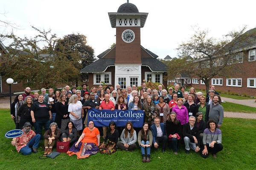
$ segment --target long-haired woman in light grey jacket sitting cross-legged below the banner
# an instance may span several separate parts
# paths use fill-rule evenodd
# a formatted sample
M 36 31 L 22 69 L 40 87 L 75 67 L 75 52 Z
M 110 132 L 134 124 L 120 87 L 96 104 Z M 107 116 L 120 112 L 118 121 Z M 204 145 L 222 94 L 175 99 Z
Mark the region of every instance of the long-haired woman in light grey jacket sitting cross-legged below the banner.
M 132 152 L 137 146 L 137 134 L 130 121 L 125 125 L 125 129 L 122 131 L 120 136 L 121 141 L 117 142 L 116 146 L 121 150 L 128 150 Z

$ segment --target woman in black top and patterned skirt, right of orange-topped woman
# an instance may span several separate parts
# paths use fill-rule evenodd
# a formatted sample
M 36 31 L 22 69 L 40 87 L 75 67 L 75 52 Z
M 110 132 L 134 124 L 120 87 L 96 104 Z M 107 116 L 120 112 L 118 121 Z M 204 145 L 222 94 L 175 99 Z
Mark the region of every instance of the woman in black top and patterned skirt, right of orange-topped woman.
M 104 142 L 99 147 L 100 153 L 111 154 L 116 152 L 116 143 L 118 141 L 118 130 L 116 130 L 116 123 L 111 121 L 108 125 L 108 133 Z

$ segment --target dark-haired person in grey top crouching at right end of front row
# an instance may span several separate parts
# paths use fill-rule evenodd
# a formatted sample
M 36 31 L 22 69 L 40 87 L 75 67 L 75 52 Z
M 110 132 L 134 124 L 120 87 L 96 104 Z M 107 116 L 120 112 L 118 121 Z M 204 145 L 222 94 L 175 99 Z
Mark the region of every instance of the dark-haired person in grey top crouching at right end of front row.
M 221 144 L 222 134 L 221 130 L 217 129 L 218 124 L 214 120 L 207 121 L 207 129 L 204 130 L 203 144 L 204 150 L 201 153 L 203 158 L 209 156 L 209 152 L 212 153 L 213 158 L 217 158 L 216 153 L 223 150 Z

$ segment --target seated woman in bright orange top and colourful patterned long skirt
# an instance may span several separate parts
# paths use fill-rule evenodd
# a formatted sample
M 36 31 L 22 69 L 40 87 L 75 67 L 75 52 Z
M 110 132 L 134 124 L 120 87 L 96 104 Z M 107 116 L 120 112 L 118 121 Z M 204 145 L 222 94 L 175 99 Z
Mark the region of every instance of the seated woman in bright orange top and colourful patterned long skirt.
M 99 144 L 99 130 L 94 127 L 93 121 L 90 121 L 89 126 L 84 129 L 78 141 L 67 151 L 67 154 L 69 156 L 77 155 L 77 159 L 87 158 L 98 152 Z

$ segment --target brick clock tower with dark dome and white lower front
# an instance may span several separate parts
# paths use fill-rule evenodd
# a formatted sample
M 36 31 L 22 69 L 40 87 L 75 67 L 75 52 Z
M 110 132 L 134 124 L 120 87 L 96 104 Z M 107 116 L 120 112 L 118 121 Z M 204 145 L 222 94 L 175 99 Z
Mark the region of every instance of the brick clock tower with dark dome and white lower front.
M 121 87 L 141 82 L 140 28 L 144 27 L 148 13 L 139 12 L 132 3 L 124 3 L 108 16 L 112 28 L 116 28 L 115 82 Z

